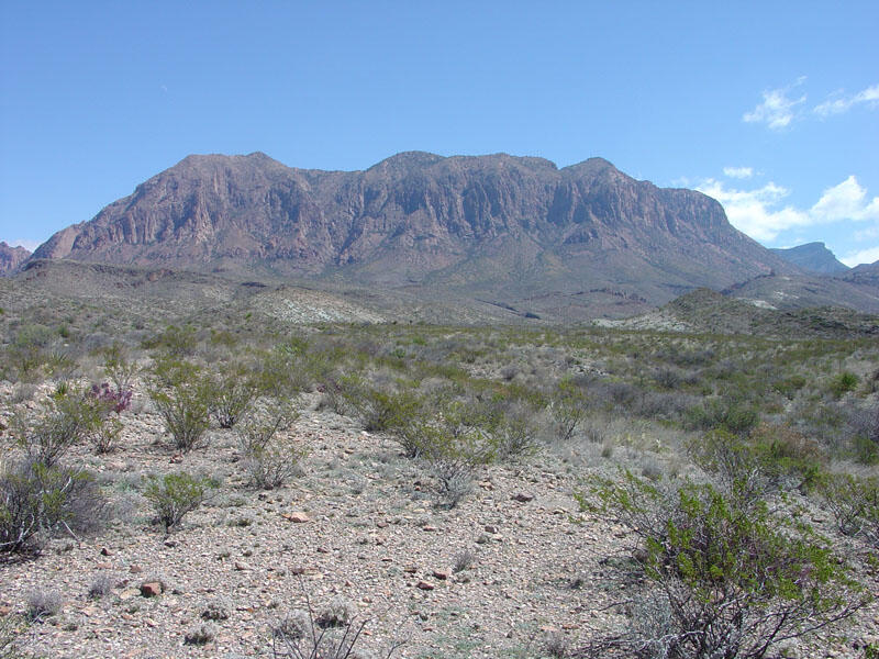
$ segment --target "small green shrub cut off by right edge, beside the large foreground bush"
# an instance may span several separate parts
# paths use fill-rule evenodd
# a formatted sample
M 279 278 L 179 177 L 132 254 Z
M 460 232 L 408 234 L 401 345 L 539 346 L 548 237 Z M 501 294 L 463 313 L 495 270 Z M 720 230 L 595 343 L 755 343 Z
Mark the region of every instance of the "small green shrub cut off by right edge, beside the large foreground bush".
M 879 478 L 827 474 L 820 480 L 817 491 L 839 533 L 879 548 Z

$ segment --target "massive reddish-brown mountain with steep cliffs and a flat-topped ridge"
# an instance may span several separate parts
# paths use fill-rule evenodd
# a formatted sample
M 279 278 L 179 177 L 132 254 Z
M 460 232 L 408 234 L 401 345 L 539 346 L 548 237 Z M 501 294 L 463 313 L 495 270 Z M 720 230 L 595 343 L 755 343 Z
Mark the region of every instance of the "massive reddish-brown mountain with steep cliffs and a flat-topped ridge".
M 799 272 L 700 192 L 601 158 L 409 152 L 363 171 L 189 156 L 41 245 L 66 258 L 450 291 L 523 312 L 631 314 Z

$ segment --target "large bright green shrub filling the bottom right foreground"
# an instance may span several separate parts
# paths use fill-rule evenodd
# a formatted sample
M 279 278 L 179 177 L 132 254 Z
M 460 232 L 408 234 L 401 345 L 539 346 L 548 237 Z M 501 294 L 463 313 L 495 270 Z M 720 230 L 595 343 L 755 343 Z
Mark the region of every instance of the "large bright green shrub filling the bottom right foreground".
M 626 473 L 599 480 L 585 510 L 628 527 L 660 629 L 597 639 L 581 656 L 766 657 L 772 644 L 845 619 L 868 595 L 823 538 L 711 485 L 665 490 Z

